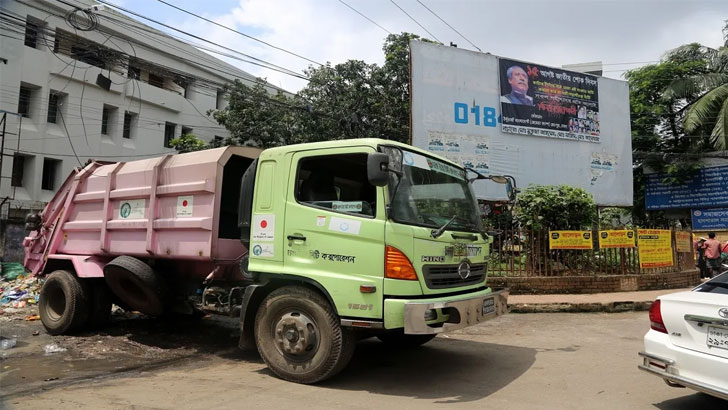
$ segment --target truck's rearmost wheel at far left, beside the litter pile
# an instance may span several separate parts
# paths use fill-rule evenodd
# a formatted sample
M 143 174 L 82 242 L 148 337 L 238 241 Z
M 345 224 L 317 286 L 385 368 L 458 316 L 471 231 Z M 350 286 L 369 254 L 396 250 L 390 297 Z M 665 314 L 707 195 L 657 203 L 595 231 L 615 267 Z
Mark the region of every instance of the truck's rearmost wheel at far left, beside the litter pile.
M 88 318 L 86 292 L 76 275 L 67 270 L 51 273 L 40 290 L 38 313 L 52 335 L 83 326 Z

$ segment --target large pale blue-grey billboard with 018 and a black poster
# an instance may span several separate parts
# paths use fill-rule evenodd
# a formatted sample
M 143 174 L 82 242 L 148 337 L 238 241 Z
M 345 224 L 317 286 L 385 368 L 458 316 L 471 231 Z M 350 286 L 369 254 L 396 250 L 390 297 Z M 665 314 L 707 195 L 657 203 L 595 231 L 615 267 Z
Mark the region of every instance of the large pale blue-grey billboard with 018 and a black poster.
M 522 188 L 570 185 L 598 205 L 632 205 L 626 82 L 418 41 L 410 52 L 412 145 Z M 489 181 L 475 192 L 505 198 Z

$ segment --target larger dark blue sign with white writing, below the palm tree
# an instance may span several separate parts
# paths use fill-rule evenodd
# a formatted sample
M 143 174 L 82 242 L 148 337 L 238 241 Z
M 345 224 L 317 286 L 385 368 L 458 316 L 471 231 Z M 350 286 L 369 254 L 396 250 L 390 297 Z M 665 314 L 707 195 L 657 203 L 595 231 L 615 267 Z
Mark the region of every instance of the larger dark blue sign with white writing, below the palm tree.
M 646 177 L 645 206 L 648 211 L 728 206 L 728 166 L 703 168 L 680 185 L 663 183 L 665 174 L 661 173 Z

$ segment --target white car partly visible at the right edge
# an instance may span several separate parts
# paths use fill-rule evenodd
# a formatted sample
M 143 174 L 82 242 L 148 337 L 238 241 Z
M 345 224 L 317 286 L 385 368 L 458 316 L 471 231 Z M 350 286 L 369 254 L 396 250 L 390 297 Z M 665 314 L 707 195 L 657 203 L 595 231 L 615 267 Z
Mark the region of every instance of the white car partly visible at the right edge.
M 728 271 L 652 303 L 639 355 L 639 368 L 668 386 L 728 400 Z

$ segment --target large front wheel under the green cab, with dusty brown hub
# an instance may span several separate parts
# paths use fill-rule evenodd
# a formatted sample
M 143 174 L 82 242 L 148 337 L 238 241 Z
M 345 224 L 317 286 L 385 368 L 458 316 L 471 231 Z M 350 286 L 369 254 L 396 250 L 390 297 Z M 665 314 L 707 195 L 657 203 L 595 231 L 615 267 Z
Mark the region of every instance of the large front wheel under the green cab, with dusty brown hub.
M 356 345 L 329 302 L 298 286 L 277 289 L 263 301 L 255 316 L 255 343 L 273 373 L 304 384 L 340 372 Z

